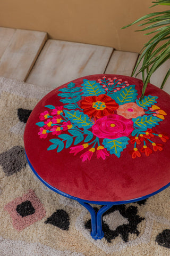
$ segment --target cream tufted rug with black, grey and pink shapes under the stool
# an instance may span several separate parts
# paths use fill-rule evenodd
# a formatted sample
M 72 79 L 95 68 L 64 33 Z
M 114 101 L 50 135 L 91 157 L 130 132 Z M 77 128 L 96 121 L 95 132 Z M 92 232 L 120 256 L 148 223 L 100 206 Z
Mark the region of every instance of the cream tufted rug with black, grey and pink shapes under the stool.
M 0 255 L 170 255 L 170 188 L 145 201 L 113 206 L 103 216 L 104 238 L 95 241 L 89 212 L 35 177 L 24 155 L 23 132 L 47 93 L 0 78 Z

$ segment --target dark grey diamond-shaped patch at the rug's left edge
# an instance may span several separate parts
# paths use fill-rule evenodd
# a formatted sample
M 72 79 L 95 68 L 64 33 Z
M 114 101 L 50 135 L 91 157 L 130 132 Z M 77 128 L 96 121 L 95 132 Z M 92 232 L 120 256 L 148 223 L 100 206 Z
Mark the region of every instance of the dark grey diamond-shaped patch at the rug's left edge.
M 6 176 L 10 176 L 15 172 L 21 171 L 27 164 L 24 148 L 21 146 L 14 146 L 0 154 L 0 164 Z

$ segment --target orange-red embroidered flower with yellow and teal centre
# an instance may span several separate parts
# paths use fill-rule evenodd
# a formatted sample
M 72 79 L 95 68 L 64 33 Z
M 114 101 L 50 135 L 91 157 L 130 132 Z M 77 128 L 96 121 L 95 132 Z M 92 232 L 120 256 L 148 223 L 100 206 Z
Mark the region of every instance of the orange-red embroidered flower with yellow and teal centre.
M 111 115 L 118 108 L 115 100 L 105 94 L 99 96 L 88 96 L 81 101 L 81 108 L 84 114 L 90 117 L 101 118 Z

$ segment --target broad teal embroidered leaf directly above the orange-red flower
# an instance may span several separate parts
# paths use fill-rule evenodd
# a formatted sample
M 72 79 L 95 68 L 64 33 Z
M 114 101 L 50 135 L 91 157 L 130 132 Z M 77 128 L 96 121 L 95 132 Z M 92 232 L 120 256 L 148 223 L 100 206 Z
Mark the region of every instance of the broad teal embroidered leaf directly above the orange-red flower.
M 96 81 L 89 81 L 88 79 L 83 79 L 83 96 L 98 96 L 100 94 L 105 94 L 105 89 L 102 85 Z

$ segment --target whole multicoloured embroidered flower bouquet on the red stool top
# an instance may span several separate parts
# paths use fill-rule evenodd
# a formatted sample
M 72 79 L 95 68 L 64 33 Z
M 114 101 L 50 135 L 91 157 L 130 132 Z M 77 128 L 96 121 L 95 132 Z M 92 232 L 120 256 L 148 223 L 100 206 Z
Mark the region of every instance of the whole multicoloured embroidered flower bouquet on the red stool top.
M 167 115 L 156 105 L 158 97 L 140 101 L 128 81 L 104 76 L 84 79 L 79 87 L 71 82 L 59 91 L 63 106 L 45 106 L 48 111 L 44 109 L 36 123 L 40 139 L 49 138 L 48 151 L 70 149 L 85 162 L 92 157 L 105 160 L 110 154 L 121 157 L 129 145 L 131 157 L 138 159 L 162 151 L 160 142 L 169 139 L 155 129 Z

